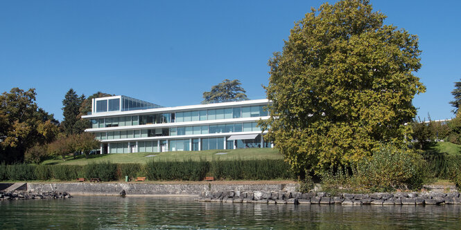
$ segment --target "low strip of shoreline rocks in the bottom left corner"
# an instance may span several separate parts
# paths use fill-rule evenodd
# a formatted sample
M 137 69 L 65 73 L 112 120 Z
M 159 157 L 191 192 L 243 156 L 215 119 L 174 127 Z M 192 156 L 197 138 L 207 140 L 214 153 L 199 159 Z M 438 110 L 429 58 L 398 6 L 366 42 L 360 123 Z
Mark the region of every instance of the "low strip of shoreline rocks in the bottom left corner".
M 72 198 L 70 193 L 67 192 L 43 192 L 31 193 L 28 191 L 0 191 L 0 200 L 30 200 L 30 199 L 66 199 Z

